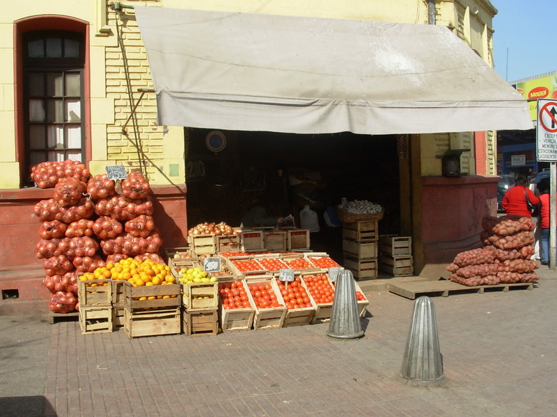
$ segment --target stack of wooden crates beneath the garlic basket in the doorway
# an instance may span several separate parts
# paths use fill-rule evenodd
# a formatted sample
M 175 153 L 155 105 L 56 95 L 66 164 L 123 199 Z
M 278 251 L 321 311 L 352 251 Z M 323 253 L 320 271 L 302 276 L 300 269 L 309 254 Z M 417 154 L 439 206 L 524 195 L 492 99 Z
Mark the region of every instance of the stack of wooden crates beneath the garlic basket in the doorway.
M 343 222 L 344 267 L 354 278 L 377 278 L 378 221 Z

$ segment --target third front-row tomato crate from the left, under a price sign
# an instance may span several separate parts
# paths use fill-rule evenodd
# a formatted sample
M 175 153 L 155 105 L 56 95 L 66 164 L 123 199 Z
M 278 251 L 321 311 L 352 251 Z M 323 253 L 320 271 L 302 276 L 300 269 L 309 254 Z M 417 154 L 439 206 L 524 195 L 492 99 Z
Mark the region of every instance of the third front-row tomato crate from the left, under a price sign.
M 283 327 L 308 325 L 313 320 L 317 305 L 309 295 L 308 288 L 301 277 L 294 281 L 276 280 L 286 306 Z

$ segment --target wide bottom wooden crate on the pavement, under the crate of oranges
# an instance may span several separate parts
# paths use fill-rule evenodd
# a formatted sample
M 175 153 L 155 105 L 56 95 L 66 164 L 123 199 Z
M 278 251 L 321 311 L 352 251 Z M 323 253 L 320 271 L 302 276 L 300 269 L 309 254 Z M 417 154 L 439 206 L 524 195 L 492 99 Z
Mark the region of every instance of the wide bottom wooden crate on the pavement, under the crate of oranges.
M 141 287 L 143 288 L 143 287 Z M 161 336 L 182 332 L 180 307 L 131 311 L 124 309 L 124 331 L 127 337 Z

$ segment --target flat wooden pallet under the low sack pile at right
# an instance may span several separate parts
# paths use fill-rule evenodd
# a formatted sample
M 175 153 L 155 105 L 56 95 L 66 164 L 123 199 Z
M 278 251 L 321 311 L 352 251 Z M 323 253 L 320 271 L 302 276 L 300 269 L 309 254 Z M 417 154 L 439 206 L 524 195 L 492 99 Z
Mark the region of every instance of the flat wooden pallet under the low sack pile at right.
M 465 286 L 446 279 L 440 279 L 439 281 L 407 281 L 398 284 L 389 284 L 390 293 L 401 295 L 410 300 L 414 300 L 421 295 L 441 295 L 442 297 L 448 297 L 450 294 L 458 293 L 483 294 L 485 291 L 503 291 L 503 293 L 506 293 L 510 291 L 510 289 L 533 290 L 533 288 L 534 284 L 531 282 Z

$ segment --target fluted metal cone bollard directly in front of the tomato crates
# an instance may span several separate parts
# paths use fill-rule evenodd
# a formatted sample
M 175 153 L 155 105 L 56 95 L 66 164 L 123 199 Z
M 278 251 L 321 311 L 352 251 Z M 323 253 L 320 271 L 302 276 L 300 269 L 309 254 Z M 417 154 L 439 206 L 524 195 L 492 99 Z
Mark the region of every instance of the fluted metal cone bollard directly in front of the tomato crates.
M 327 336 L 337 338 L 359 338 L 363 336 L 354 276 L 349 270 L 341 271 L 336 279 L 335 298 Z

